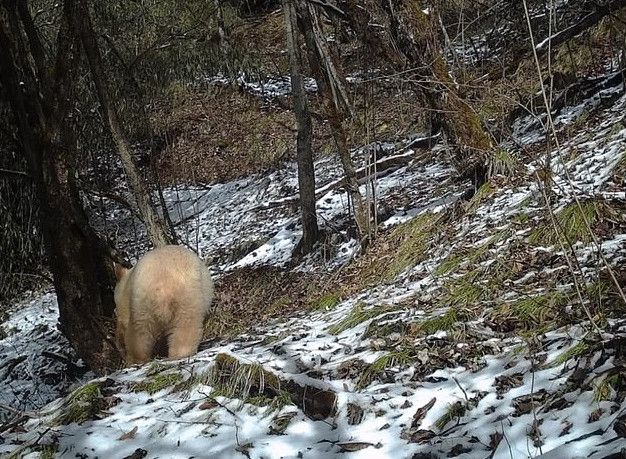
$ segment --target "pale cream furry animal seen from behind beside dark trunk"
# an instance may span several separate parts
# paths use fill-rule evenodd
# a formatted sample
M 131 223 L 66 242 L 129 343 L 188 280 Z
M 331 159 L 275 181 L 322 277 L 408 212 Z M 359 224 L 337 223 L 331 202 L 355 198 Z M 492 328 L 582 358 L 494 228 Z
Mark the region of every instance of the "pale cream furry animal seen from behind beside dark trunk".
M 195 253 L 158 247 L 131 269 L 115 265 L 115 277 L 116 340 L 127 364 L 150 360 L 163 338 L 168 358 L 198 351 L 214 291 L 211 274 Z

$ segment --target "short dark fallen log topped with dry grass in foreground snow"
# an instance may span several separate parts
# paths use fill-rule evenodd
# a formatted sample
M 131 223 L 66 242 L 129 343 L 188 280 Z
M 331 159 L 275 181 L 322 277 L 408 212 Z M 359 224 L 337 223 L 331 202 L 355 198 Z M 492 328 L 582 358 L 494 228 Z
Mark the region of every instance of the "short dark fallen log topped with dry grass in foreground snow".
M 314 420 L 334 415 L 337 406 L 337 394 L 333 391 L 281 378 L 260 364 L 241 363 L 223 353 L 215 357 L 211 384 L 242 400 L 257 395 L 269 398 L 288 396 L 294 405 Z

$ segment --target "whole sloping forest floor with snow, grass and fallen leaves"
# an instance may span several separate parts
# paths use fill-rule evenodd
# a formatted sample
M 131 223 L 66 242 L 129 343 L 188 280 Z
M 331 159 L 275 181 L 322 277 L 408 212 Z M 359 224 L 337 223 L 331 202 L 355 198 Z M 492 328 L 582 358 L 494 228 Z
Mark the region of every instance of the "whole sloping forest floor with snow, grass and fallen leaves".
M 261 97 L 284 94 L 277 81 Z M 0 454 L 619 457 L 626 95 L 615 74 L 589 85 L 554 114 L 551 180 L 533 115 L 470 200 L 441 143 L 355 149 L 359 167 L 372 151 L 394 164 L 363 253 L 331 155 L 316 161 L 325 238 L 302 260 L 295 164 L 168 186 L 182 242 L 217 278 L 201 351 L 94 379 L 55 326 L 54 293 L 27 295 L 0 333 Z M 128 212 L 108 205 L 131 247 Z

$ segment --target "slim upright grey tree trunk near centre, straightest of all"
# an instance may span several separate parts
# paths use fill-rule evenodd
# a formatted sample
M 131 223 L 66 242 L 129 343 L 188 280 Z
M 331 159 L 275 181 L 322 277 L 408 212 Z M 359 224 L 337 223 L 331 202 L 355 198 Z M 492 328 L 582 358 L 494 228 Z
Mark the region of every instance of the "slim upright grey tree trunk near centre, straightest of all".
M 285 15 L 285 29 L 287 32 L 287 49 L 291 67 L 291 96 L 293 111 L 298 124 L 298 191 L 300 194 L 300 209 L 302 211 L 302 239 L 296 247 L 299 255 L 311 251 L 313 244 L 319 239 L 317 214 L 315 211 L 315 170 L 313 168 L 312 137 L 313 127 L 311 114 L 304 91 L 302 76 L 302 53 L 298 39 L 298 23 L 293 0 L 283 0 Z

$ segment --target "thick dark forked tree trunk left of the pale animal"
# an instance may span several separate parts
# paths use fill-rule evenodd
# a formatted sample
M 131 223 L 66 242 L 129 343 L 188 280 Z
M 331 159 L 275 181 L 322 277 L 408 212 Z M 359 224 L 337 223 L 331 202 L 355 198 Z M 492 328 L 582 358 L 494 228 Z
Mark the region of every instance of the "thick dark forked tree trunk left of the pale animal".
M 105 371 L 119 362 L 103 320 L 113 315 L 112 279 L 103 243 L 87 222 L 75 183 L 71 90 L 77 53 L 67 21 L 67 4 L 58 33 L 54 81 L 35 78 L 35 69 L 45 68 L 45 62 L 40 61 L 43 56 L 29 48 L 35 37 L 29 36 L 28 44 L 19 43 L 22 37 L 16 33 L 22 33 L 27 22 L 22 19 L 20 26 L 11 6 L 5 3 L 0 7 L 0 83 L 40 201 L 60 329 L 92 369 Z M 32 63 L 33 58 L 36 63 Z M 39 87 L 47 82 L 52 87 Z

